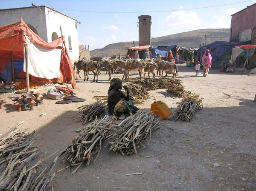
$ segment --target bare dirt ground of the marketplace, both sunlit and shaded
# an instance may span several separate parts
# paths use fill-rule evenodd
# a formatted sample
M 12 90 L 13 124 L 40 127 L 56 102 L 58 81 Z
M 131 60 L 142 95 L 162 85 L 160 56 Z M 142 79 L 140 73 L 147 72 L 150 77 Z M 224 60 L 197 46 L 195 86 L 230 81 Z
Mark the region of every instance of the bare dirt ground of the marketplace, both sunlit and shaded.
M 102 71 L 102 73 L 104 73 Z M 81 72 L 82 74 L 82 72 Z M 81 75 L 83 77 L 83 74 Z M 92 77 L 92 75 L 90 75 Z M 122 78 L 122 74 L 113 77 Z M 132 78 L 138 75 L 131 75 Z M 237 71 L 233 74 L 210 70 L 207 77 L 195 75 L 195 70 L 179 66 L 178 79 L 186 90 L 204 98 L 204 109 L 195 114 L 192 122 L 164 120 L 161 128 L 152 133 L 151 143 L 139 153 L 123 157 L 103 147 L 97 160 L 89 166 L 61 171 L 54 178 L 56 191 L 256 191 L 256 76 Z M 46 157 L 56 150 L 62 151 L 76 136 L 74 131 L 83 128 L 72 117 L 77 107 L 93 103 L 94 95 L 107 95 L 108 75 L 99 75 L 102 83 L 78 80 L 75 92 L 85 98 L 83 103 L 56 105 L 44 100 L 35 111 L 15 111 L 7 97 L 6 109 L 0 111 L 0 134 L 24 120 L 18 129 L 41 134 L 39 147 Z M 102 90 L 102 91 L 97 91 Z M 96 92 L 97 91 L 97 92 Z M 47 90 L 40 90 L 46 93 Z M 230 94 L 230 97 L 226 94 Z M 163 100 L 175 111 L 181 98 L 165 89 L 150 91 L 156 100 Z M 141 109 L 149 110 L 154 100 L 147 100 Z M 39 115 L 46 114 L 43 117 Z M 161 120 L 161 119 L 159 119 Z M 162 120 L 161 120 L 162 121 Z M 104 146 L 107 142 L 104 143 Z M 43 165 L 49 165 L 55 156 Z M 219 164 L 216 164 L 219 163 Z M 68 165 L 58 160 L 57 168 Z M 126 176 L 142 172 L 141 175 Z

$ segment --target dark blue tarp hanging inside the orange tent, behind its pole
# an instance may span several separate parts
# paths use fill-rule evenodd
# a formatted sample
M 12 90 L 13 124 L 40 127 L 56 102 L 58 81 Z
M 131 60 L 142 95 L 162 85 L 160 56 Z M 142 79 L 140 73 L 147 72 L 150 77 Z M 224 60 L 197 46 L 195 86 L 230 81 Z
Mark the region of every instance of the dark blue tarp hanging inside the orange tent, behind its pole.
M 23 64 L 24 60 L 14 60 L 14 74 L 15 78 L 18 78 L 17 75 L 23 71 Z M 0 73 L 0 77 L 2 78 L 3 82 L 12 81 L 12 62 L 8 64 L 8 66 L 4 69 L 2 73 Z

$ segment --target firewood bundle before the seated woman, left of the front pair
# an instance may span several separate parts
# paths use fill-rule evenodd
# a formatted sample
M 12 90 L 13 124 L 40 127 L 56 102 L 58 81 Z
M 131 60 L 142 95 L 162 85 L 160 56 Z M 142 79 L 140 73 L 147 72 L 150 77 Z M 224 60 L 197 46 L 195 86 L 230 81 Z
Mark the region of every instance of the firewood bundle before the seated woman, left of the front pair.
M 61 155 L 70 162 L 71 166 L 79 165 L 72 174 L 83 164 L 90 164 L 96 154 L 99 154 L 103 140 L 108 136 L 113 124 L 111 118 L 95 120 L 87 125 L 76 137 L 73 138 L 71 145 L 65 148 Z

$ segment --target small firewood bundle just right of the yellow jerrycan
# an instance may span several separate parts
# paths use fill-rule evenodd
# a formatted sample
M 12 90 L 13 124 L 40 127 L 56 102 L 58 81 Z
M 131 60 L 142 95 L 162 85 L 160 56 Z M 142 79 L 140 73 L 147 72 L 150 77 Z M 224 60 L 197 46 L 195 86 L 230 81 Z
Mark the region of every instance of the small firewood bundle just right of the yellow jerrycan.
M 202 109 L 201 100 L 188 99 L 178 105 L 177 110 L 173 113 L 175 121 L 191 121 L 196 111 Z

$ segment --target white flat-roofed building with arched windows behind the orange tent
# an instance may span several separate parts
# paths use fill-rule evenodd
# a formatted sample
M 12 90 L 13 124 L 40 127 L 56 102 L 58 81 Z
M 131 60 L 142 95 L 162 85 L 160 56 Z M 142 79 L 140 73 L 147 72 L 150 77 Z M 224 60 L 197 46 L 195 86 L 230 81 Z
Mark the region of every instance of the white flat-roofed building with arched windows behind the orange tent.
M 21 17 L 47 43 L 61 37 L 61 26 L 71 60 L 79 60 L 77 20 L 47 6 L 33 6 L 0 9 L 0 26 L 16 23 Z

